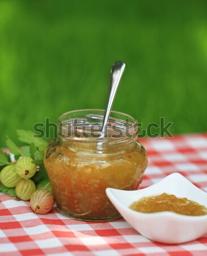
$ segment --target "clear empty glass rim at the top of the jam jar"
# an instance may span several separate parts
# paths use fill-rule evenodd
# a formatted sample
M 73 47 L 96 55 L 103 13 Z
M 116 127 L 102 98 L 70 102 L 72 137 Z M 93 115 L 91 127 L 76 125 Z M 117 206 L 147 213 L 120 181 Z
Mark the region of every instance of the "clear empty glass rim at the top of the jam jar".
M 123 143 L 137 138 L 139 130 L 137 119 L 117 111 L 111 112 L 107 131 L 103 135 L 101 128 L 104 112 L 103 109 L 80 109 L 61 114 L 58 117 L 58 137 L 65 142 L 73 140 L 96 143 Z M 95 130 L 94 124 L 98 130 Z

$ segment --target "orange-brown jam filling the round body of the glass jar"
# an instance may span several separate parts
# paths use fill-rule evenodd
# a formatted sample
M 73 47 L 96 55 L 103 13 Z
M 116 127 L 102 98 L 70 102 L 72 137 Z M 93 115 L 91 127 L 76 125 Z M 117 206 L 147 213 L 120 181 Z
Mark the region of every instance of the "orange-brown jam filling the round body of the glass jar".
M 44 159 L 57 208 L 81 220 L 120 217 L 105 194 L 107 187 L 134 190 L 142 181 L 147 156 L 140 143 L 95 154 L 91 148 L 66 147 L 53 141 Z

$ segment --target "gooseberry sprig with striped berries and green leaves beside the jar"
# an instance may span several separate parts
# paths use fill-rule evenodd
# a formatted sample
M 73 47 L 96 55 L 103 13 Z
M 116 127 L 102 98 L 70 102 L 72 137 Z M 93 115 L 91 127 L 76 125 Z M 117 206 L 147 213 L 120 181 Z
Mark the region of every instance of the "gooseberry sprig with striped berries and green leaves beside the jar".
M 11 160 L 0 150 L 0 191 L 16 197 L 16 200 L 30 200 L 32 197 L 32 207 L 36 204 L 34 211 L 47 213 L 54 204 L 43 163 L 47 142 L 33 137 L 32 131 L 18 130 L 17 134 L 19 141 L 26 143 L 26 146 L 18 147 L 9 137 L 6 138 L 6 145 L 14 157 Z

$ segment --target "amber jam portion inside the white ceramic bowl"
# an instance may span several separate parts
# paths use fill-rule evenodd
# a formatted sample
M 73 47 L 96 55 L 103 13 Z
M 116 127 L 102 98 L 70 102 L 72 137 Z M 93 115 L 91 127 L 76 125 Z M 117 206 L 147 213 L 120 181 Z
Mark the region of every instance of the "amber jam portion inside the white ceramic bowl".
M 142 213 L 168 211 L 190 216 L 207 214 L 207 208 L 204 205 L 188 200 L 186 197 L 176 197 L 167 193 L 162 193 L 158 196 L 143 197 L 133 202 L 129 208 Z

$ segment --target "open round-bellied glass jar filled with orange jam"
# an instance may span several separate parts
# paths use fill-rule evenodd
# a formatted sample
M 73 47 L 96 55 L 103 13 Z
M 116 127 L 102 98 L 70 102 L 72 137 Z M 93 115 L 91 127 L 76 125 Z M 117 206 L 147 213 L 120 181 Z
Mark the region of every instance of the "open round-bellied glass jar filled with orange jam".
M 145 148 L 137 142 L 136 119 L 111 112 L 103 135 L 103 115 L 104 110 L 95 109 L 60 115 L 58 138 L 44 154 L 58 210 L 78 220 L 121 217 L 105 189 L 137 189 L 147 167 Z

